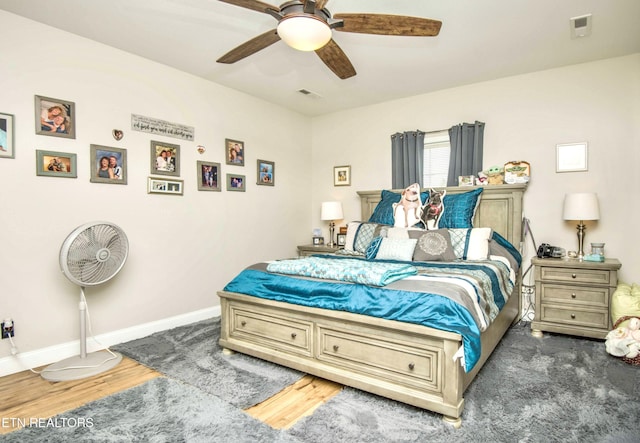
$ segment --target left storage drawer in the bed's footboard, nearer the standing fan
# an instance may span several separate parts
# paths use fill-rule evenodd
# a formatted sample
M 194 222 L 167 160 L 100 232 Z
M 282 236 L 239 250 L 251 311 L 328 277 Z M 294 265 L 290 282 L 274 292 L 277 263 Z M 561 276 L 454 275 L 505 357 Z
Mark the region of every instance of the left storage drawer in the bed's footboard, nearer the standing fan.
M 311 356 L 312 324 L 268 309 L 254 312 L 230 306 L 230 338 L 238 338 L 280 351 Z

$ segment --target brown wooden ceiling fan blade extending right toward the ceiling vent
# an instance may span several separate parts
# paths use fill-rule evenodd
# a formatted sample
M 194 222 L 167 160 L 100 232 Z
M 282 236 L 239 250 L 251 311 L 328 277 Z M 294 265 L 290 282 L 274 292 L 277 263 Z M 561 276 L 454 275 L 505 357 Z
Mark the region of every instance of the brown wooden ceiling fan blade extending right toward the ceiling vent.
M 344 26 L 335 28 L 336 31 L 361 34 L 433 37 L 438 35 L 442 26 L 439 20 L 406 15 L 334 14 L 333 18 L 344 21 Z

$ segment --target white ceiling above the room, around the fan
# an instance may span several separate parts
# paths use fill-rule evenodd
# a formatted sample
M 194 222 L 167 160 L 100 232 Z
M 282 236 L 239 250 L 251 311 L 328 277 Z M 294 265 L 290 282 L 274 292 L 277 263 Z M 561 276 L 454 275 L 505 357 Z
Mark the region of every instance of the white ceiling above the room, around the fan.
M 284 42 L 216 63 L 277 24 L 217 0 L 0 0 L 0 9 L 309 116 L 640 52 L 640 0 L 330 0 L 327 8 L 443 24 L 437 37 L 334 31 L 358 73 L 340 80 L 315 53 Z M 591 36 L 571 39 L 569 19 L 585 14 L 593 15 Z

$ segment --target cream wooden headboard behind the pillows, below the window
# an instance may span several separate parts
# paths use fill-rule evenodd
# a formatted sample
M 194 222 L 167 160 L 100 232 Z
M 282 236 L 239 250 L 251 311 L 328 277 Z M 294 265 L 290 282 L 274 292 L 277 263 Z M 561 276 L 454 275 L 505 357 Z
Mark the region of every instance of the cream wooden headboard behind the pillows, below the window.
M 447 194 L 460 194 L 475 189 L 475 186 L 453 186 L 446 189 Z M 475 227 L 488 227 L 509 240 L 516 248 L 522 238 L 522 198 L 527 184 L 482 186 L 480 204 L 473 221 Z M 402 189 L 391 189 L 401 193 Z M 362 220 L 369 220 L 382 191 L 358 191 L 362 208 Z M 446 207 L 445 207 L 446 211 Z

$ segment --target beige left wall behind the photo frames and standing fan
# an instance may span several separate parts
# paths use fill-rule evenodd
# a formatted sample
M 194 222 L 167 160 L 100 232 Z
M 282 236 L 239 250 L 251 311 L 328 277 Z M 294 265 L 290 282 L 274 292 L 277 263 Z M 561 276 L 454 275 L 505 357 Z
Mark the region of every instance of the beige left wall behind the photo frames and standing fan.
M 130 242 L 122 272 L 87 288 L 95 334 L 217 305 L 242 268 L 308 242 L 308 118 L 3 11 L 0 22 L 0 112 L 15 115 L 16 141 L 15 159 L 0 159 L 0 318 L 13 317 L 23 355 L 79 337 L 79 289 L 58 252 L 82 223 L 114 222 Z M 75 140 L 35 134 L 34 95 L 75 102 Z M 193 126 L 195 141 L 134 132 L 132 113 Z M 244 167 L 224 164 L 225 138 L 245 142 Z M 151 140 L 180 145 L 184 196 L 147 194 Z M 90 144 L 127 149 L 128 185 L 89 182 Z M 77 154 L 78 178 L 36 176 L 36 149 Z M 257 159 L 275 162 L 274 187 L 255 184 Z M 245 175 L 247 191 L 197 191 L 197 160 Z

